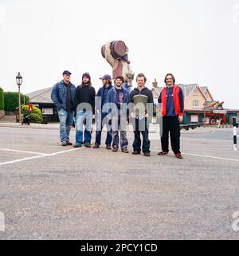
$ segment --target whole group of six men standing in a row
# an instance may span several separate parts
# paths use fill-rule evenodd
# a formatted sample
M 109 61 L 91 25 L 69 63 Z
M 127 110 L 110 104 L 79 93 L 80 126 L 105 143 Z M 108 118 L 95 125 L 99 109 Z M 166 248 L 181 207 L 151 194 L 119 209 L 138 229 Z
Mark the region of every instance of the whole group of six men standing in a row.
M 112 77 L 106 74 L 100 78 L 103 86 L 97 94 L 92 87 L 89 73 L 82 75 L 81 84 L 77 88 L 72 85 L 70 76 L 71 73 L 65 70 L 63 80 L 53 86 L 51 94 L 60 120 L 61 145 L 72 145 L 69 141 L 69 133 L 75 121 L 76 143 L 73 147 L 91 148 L 92 120 L 95 115 L 96 141 L 93 148 L 100 148 L 101 132 L 106 125 L 106 149 L 117 152 L 120 147 L 122 152 L 128 153 L 126 130 L 130 120 L 135 135 L 132 154 L 139 155 L 142 150 L 144 156 L 150 156 L 151 143 L 148 131 L 154 99 L 151 90 L 146 87 L 145 75 L 138 74 L 137 87 L 129 93 L 123 86 L 123 77 L 115 77 L 112 85 Z M 168 134 L 170 132 L 173 152 L 177 158 L 182 158 L 179 142 L 179 122 L 182 122 L 183 116 L 182 89 L 174 85 L 175 79 L 172 74 L 167 74 L 165 83 L 167 86 L 159 96 L 159 108 L 163 115 L 163 136 L 161 137 L 162 152 L 158 155 L 164 156 L 169 152 Z M 143 136 L 143 144 L 141 144 L 140 134 Z

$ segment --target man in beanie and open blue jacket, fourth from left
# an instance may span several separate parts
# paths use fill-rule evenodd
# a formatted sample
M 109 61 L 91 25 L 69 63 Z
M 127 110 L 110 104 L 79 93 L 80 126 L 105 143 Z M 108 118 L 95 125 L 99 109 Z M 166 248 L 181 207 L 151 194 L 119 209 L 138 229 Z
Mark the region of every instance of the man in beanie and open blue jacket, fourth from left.
M 113 87 L 108 93 L 108 100 L 111 107 L 111 118 L 112 118 L 112 151 L 117 152 L 119 148 L 119 132 L 120 132 L 120 148 L 123 153 L 127 151 L 127 103 L 129 99 L 129 93 L 127 89 L 124 89 L 123 77 L 118 76 L 115 80 L 116 86 Z

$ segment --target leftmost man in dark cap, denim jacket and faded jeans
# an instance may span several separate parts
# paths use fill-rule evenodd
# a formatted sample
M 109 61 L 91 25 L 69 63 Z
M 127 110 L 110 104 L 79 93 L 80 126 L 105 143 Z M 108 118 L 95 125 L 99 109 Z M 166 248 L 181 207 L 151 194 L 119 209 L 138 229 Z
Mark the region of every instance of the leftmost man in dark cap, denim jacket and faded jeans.
M 69 133 L 74 117 L 76 86 L 70 82 L 71 73 L 63 72 L 63 80 L 53 86 L 52 100 L 57 108 L 60 120 L 61 146 L 72 145 L 69 142 Z

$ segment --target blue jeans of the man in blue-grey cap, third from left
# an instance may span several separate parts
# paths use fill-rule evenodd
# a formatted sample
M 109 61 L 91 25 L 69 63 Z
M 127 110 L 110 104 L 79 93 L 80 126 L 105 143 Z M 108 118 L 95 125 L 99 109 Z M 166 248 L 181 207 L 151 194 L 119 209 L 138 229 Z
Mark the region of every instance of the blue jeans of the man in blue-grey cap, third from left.
M 98 116 L 96 119 L 96 144 L 99 144 L 99 145 L 101 142 L 101 131 L 102 131 L 102 128 L 104 128 L 104 124 L 106 124 L 105 117 L 107 115 L 108 115 L 107 113 L 101 113 L 101 118 L 100 116 Z M 109 121 L 108 125 L 110 126 L 112 125 L 111 120 Z M 107 125 L 107 128 L 108 128 L 108 125 Z M 106 145 L 112 144 L 112 128 L 108 128 L 105 144 Z

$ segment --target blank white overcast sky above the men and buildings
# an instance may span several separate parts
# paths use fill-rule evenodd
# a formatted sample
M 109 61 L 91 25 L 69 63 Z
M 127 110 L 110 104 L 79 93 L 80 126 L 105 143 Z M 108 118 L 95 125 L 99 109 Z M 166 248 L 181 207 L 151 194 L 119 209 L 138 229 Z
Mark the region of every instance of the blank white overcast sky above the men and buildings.
M 239 108 L 239 0 L 0 0 L 0 31 L 5 91 L 17 91 L 18 71 L 29 93 L 61 81 L 64 69 L 75 85 L 88 71 L 98 89 L 112 72 L 101 46 L 123 40 L 148 87 L 170 72 Z

